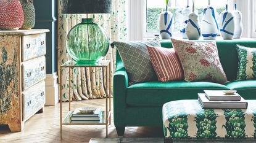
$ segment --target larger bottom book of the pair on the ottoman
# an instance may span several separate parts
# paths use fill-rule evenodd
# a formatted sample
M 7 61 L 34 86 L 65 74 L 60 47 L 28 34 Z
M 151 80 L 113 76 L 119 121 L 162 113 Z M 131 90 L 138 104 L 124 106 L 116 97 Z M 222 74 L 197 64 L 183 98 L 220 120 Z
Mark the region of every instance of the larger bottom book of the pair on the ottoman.
M 247 109 L 248 103 L 241 97 L 241 101 L 209 101 L 205 93 L 198 93 L 198 101 L 202 108 L 214 109 Z

